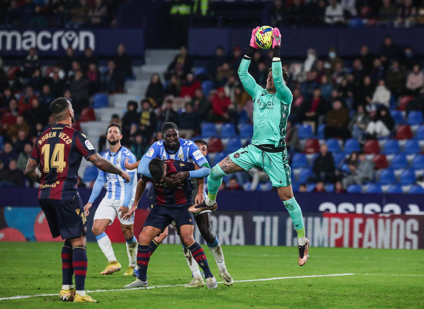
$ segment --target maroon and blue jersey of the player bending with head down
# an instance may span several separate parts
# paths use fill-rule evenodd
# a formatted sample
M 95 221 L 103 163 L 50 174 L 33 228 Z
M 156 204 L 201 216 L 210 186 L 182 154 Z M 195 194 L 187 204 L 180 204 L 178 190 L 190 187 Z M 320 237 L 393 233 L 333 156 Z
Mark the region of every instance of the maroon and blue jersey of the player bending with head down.
M 179 171 L 194 171 L 195 166 L 193 163 L 180 161 L 180 160 L 164 160 L 167 165 L 167 177 L 172 177 Z M 153 179 L 145 177 L 142 175 L 142 179 L 145 182 L 150 181 L 154 185 L 154 191 L 156 194 L 156 203 L 155 205 L 162 206 L 186 206 L 192 205 L 191 196 L 192 188 L 190 184 L 190 179 L 187 178 L 183 183 L 179 185 L 181 189 L 171 188 L 165 182 L 154 182 Z

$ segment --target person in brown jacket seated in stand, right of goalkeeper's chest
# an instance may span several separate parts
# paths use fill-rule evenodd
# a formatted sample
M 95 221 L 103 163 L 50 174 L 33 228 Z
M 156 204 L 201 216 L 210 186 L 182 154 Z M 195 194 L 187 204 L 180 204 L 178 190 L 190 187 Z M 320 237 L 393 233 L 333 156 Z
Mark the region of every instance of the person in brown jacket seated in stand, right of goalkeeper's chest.
M 333 108 L 327 112 L 327 126 L 324 129 L 325 138 L 349 138 L 347 129 L 349 123 L 349 110 L 343 107 L 340 100 L 333 102 Z

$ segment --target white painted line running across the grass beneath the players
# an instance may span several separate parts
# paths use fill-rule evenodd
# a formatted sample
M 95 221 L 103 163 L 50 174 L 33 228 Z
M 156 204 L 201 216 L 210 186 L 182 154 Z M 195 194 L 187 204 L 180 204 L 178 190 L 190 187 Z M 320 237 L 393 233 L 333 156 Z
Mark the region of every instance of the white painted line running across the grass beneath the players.
M 352 273 L 344 273 L 344 274 L 330 274 L 330 275 L 309 275 L 309 276 L 293 276 L 293 277 L 275 277 L 275 278 L 264 278 L 264 279 L 250 279 L 250 280 L 234 280 L 234 282 L 252 282 L 252 281 L 271 281 L 271 280 L 280 280 L 280 279 L 295 279 L 295 278 L 315 278 L 315 277 L 336 277 L 336 276 L 350 276 L 356 275 Z M 224 283 L 223 281 L 218 283 Z M 137 289 L 155 289 L 161 287 L 184 287 L 185 284 L 173 284 L 173 285 L 158 285 L 152 287 L 133 287 L 129 289 L 97 289 L 93 291 L 86 291 L 86 293 L 97 293 L 97 292 L 118 292 L 118 291 L 131 291 Z M 37 295 L 17 295 L 11 297 L 3 297 L 0 298 L 0 301 L 8 300 L 8 299 L 22 299 L 22 298 L 31 298 L 31 297 L 40 297 L 40 296 L 59 296 L 56 294 L 37 294 Z

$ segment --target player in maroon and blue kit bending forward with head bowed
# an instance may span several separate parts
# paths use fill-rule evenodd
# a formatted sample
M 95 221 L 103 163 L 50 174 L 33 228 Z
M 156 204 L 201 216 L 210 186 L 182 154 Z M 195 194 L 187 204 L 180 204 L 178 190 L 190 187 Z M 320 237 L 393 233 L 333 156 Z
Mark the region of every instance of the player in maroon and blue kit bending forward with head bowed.
M 148 169 L 150 177 L 142 174 L 137 184 L 134 204 L 124 217 L 131 218 L 137 209 L 137 204 L 146 188 L 146 183 L 148 181 L 153 183 L 156 193 L 155 205 L 148 214 L 139 236 L 137 250 L 139 275 L 134 282 L 125 287 L 148 287 L 147 267 L 151 256 L 150 243 L 156 235 L 162 233 L 172 221 L 175 221 L 181 241 L 187 246 L 197 264 L 204 271 L 208 289 L 216 289 L 218 284 L 209 269 L 205 253 L 193 236 L 194 217 L 188 211 L 192 199 L 189 180 L 186 177 L 178 185 L 170 181 L 173 177 L 182 177 L 185 172 L 191 173 L 201 170 L 209 172 L 208 169 L 206 167 L 199 168 L 195 163 L 173 159 L 162 161 L 159 158 L 150 160 Z M 201 172 L 203 173 L 204 171 Z

